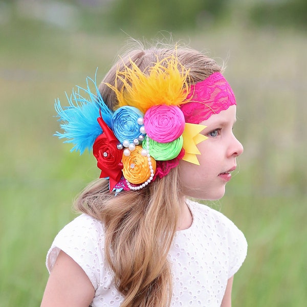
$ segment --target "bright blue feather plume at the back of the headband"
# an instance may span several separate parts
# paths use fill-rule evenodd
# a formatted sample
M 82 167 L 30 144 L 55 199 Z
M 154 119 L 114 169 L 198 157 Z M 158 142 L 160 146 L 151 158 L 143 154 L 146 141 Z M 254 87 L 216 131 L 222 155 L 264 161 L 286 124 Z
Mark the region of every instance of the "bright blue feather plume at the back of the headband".
M 97 73 L 97 71 L 96 71 Z M 95 85 L 96 94 L 90 90 L 90 82 Z M 88 98 L 84 98 L 81 93 Z M 60 100 L 55 101 L 55 110 L 59 117 L 60 127 L 63 133 L 56 132 L 59 139 L 66 139 L 64 143 L 73 143 L 71 151 L 79 151 L 80 155 L 87 148 L 92 149 L 96 138 L 102 133 L 102 129 L 97 121 L 100 112 L 105 123 L 111 127 L 113 112 L 104 103 L 95 81 L 90 77 L 86 78 L 86 89 L 77 86 L 70 97 L 66 94 L 69 106 L 62 108 Z

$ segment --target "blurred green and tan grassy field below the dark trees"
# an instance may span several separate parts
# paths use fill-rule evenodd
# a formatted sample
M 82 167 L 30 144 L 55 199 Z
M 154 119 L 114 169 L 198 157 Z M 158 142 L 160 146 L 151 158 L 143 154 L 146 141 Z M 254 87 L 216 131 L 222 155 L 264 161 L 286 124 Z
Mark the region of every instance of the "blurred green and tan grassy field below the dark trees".
M 229 57 L 225 75 L 238 101 L 240 171 L 213 204 L 244 231 L 248 257 L 233 288 L 236 306 L 295 306 L 307 300 L 304 35 L 267 29 L 175 33 L 211 56 Z M 98 80 L 124 46 L 122 34 L 9 24 L 0 31 L 0 306 L 38 306 L 45 257 L 75 214 L 75 195 L 99 176 L 91 155 L 53 137 L 54 99 L 85 76 Z

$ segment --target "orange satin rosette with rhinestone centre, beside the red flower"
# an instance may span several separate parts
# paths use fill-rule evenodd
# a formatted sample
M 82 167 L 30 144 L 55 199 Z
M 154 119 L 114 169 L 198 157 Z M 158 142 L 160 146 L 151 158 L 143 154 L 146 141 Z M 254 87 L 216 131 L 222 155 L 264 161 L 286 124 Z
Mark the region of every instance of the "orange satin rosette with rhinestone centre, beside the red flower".
M 130 156 L 123 155 L 123 175 L 124 178 L 132 184 L 141 184 L 146 182 L 150 176 L 149 161 L 147 156 L 142 156 L 143 147 L 136 146 L 136 149 L 130 152 Z M 150 157 L 153 173 L 156 172 L 156 160 Z

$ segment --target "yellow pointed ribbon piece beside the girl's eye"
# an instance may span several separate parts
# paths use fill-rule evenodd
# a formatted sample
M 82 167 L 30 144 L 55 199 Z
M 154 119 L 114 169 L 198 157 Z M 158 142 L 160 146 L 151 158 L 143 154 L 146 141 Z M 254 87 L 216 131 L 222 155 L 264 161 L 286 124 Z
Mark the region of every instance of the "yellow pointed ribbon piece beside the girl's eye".
M 208 139 L 206 136 L 200 134 L 206 127 L 207 126 L 199 124 L 185 123 L 182 134 L 183 148 L 185 151 L 184 157 L 182 158 L 183 160 L 200 165 L 196 155 L 200 155 L 201 152 L 196 145 Z

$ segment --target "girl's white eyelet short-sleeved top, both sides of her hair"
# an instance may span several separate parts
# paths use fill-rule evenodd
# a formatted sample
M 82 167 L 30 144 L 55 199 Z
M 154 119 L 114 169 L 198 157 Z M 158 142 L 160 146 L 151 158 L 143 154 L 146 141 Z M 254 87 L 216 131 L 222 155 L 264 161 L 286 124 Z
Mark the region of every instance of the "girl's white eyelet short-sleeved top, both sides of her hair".
M 178 231 L 169 251 L 172 265 L 171 306 L 221 306 L 227 281 L 243 264 L 247 253 L 244 234 L 221 212 L 187 200 L 193 216 L 190 228 Z M 47 254 L 50 272 L 62 250 L 91 280 L 91 306 L 120 306 L 122 295 L 113 283 L 104 256 L 101 222 L 81 214 L 55 237 Z

